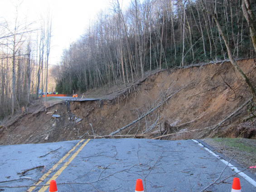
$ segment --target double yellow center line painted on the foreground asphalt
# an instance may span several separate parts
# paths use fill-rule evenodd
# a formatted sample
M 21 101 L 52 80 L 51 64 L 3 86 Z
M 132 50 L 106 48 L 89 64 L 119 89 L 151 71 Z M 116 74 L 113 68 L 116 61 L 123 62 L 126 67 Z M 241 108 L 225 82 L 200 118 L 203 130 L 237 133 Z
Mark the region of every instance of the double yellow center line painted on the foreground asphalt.
M 81 144 L 85 139 L 82 139 L 81 141 L 79 141 L 76 146 L 74 146 L 70 151 L 68 151 L 68 153 L 63 157 L 61 158 L 58 163 L 56 163 L 55 165 L 53 165 L 52 168 L 49 169 L 49 171 L 47 173 L 45 173 L 37 183 L 35 183 L 35 185 L 39 185 L 41 182 L 43 182 L 46 178 L 49 177 L 49 175 L 58 167 L 59 164 L 63 163 L 63 161 L 72 153 L 72 151 L 74 151 L 77 146 L 79 144 Z M 46 183 L 46 185 L 49 185 L 51 180 L 56 180 L 56 178 L 58 178 L 58 176 L 64 171 L 65 168 L 68 167 L 68 165 L 72 162 L 72 160 L 77 156 L 77 154 L 79 154 L 79 152 L 84 148 L 84 146 L 90 141 L 90 139 L 87 139 L 86 142 L 84 142 L 84 144 L 82 144 L 82 146 L 71 156 L 71 158 L 68 159 L 68 161 L 61 167 L 59 168 L 59 170 L 53 175 L 52 178 L 50 178 L 48 180 L 48 182 Z M 48 188 L 49 186 L 44 186 L 42 187 L 39 192 L 45 192 L 46 189 Z M 36 186 L 33 186 L 33 187 L 30 187 L 29 190 L 27 192 L 32 192 L 34 189 L 36 188 Z

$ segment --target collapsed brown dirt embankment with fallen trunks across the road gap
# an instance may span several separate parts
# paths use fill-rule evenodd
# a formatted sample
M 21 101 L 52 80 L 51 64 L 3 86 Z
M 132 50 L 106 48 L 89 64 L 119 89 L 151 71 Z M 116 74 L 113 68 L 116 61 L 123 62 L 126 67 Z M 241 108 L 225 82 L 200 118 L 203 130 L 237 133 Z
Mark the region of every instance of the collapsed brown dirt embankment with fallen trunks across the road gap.
M 255 85 L 254 59 L 238 64 Z M 100 101 L 63 101 L 38 111 L 28 109 L 0 128 L 0 144 L 96 138 L 143 116 L 117 135 L 190 139 L 222 134 L 256 138 L 254 118 L 241 121 L 249 115 L 250 104 L 213 129 L 251 97 L 230 62 L 164 70 L 111 96 Z M 53 114 L 60 117 L 53 118 Z

